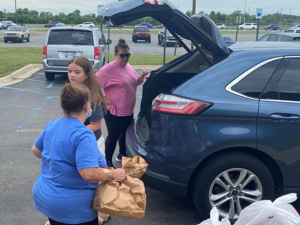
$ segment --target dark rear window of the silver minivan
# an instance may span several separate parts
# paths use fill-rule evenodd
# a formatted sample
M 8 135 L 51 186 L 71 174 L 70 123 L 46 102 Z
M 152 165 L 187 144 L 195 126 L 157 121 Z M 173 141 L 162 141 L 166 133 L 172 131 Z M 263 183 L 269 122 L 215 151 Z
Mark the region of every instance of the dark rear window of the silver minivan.
M 82 30 L 52 30 L 48 45 L 94 45 L 93 32 Z

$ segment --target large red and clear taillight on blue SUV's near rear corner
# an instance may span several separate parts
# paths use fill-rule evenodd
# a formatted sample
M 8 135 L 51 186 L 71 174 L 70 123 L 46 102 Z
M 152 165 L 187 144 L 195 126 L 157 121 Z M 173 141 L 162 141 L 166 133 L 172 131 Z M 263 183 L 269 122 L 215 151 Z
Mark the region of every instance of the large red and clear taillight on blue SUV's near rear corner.
M 196 115 L 200 112 L 204 112 L 212 104 L 213 103 L 180 98 L 162 93 L 154 99 L 152 109 L 163 113 Z

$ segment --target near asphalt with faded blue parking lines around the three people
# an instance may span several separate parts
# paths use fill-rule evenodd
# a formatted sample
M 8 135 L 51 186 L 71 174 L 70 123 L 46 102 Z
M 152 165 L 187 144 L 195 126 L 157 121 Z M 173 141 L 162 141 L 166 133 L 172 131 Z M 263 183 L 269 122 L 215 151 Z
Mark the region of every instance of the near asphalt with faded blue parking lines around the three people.
M 142 70 L 137 70 L 138 74 Z M 63 115 L 59 95 L 66 76 L 47 81 L 43 70 L 27 80 L 0 87 L 0 224 L 37 225 L 47 218 L 38 212 L 32 201 L 32 186 L 40 173 L 40 159 L 30 149 L 50 120 Z M 138 86 L 136 117 L 141 102 L 142 85 Z M 107 129 L 103 120 L 104 138 Z M 118 147 L 113 159 L 118 154 Z M 113 162 L 121 167 L 121 163 Z M 113 217 L 107 224 L 198 224 L 201 218 L 188 198 L 175 197 L 146 187 L 147 207 L 142 220 Z M 47 202 L 45 202 L 47 204 Z

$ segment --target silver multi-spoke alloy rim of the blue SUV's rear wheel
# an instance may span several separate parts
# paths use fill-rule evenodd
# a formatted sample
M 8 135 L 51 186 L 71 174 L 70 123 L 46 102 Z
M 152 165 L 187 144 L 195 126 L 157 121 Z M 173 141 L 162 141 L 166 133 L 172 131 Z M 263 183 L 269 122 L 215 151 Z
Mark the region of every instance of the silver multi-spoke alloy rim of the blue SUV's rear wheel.
M 220 216 L 237 219 L 243 208 L 262 199 L 262 184 L 251 171 L 233 168 L 213 180 L 208 197 Z

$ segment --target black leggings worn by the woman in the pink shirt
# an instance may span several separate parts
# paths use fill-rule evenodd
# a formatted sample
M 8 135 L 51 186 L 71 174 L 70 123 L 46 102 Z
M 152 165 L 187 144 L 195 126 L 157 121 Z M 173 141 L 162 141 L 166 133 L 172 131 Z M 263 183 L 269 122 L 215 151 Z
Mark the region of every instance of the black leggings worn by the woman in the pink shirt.
M 130 116 L 115 116 L 109 111 L 104 115 L 108 136 L 105 139 L 106 162 L 113 160 L 113 153 L 119 141 L 119 153 L 126 154 L 125 133 L 129 124 L 133 121 L 133 113 Z

